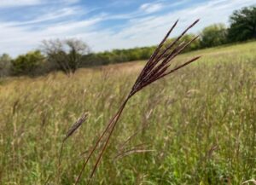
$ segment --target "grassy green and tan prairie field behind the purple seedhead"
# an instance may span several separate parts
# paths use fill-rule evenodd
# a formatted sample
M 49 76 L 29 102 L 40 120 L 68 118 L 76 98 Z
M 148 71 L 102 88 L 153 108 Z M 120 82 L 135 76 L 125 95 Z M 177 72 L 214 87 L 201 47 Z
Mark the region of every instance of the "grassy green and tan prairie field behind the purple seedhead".
M 125 107 L 92 184 L 241 184 L 256 178 L 256 43 L 204 49 Z M 0 82 L 0 184 L 73 184 L 144 61 Z M 88 119 L 64 145 L 68 128 Z M 84 171 L 86 184 L 96 156 Z

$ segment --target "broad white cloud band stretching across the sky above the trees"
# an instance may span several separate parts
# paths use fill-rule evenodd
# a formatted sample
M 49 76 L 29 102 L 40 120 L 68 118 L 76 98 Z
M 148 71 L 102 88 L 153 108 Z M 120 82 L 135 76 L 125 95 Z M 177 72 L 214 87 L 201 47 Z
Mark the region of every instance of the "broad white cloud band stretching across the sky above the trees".
M 1 0 L 0 0 L 1 1 Z M 58 24 L 46 24 L 44 28 L 31 29 L 31 24 L 43 20 L 59 19 L 60 16 L 75 16 L 76 10 L 63 9 L 53 14 L 25 22 L 0 22 L 0 50 L 11 55 L 19 55 L 30 49 L 36 49 L 43 39 L 78 37 L 90 44 L 93 50 L 101 51 L 116 48 L 131 48 L 135 46 L 153 45 L 160 41 L 173 22 L 179 19 L 177 29 L 172 36 L 177 36 L 192 21 L 201 21 L 192 32 L 198 32 L 212 23 L 228 23 L 229 15 L 235 9 L 255 4 L 255 0 L 211 0 L 205 3 L 193 4 L 189 8 L 175 10 L 166 14 L 98 14 L 85 20 L 62 20 Z M 146 8 L 144 8 L 146 9 Z M 72 17 L 72 16 L 71 16 Z M 130 18 L 122 25 L 122 29 L 113 27 L 99 29 L 102 21 Z M 29 23 L 29 24 L 28 24 Z

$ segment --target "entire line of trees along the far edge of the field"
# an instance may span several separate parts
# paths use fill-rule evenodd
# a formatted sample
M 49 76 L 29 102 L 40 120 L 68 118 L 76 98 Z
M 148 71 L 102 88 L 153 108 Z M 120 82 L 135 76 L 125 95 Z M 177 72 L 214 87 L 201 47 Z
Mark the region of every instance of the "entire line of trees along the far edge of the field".
M 187 34 L 181 42 L 195 38 L 195 34 Z M 196 49 L 216 47 L 226 43 L 243 42 L 256 38 L 256 6 L 236 10 L 230 15 L 230 26 L 214 24 L 200 32 L 200 38 L 189 45 L 183 52 Z M 170 38 L 168 43 L 175 38 Z M 0 77 L 10 75 L 41 75 L 61 70 L 67 76 L 72 75 L 79 67 L 100 66 L 125 61 L 147 60 L 156 46 L 113 49 L 93 53 L 83 41 L 71 39 L 55 39 L 43 41 L 40 49 L 19 55 L 12 59 L 9 55 L 0 55 Z

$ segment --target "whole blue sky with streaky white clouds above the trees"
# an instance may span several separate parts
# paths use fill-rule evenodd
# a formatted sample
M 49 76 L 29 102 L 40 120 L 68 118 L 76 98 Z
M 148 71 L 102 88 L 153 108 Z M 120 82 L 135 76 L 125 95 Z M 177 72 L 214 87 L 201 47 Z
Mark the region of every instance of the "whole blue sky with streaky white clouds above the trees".
M 196 19 L 198 34 L 213 23 L 229 25 L 236 9 L 255 0 L 0 0 L 0 55 L 25 54 L 42 40 L 79 38 L 92 51 L 128 49 L 172 37 Z

